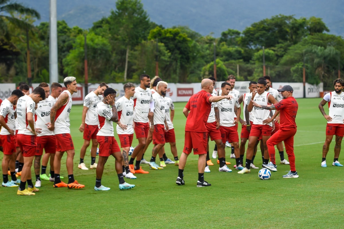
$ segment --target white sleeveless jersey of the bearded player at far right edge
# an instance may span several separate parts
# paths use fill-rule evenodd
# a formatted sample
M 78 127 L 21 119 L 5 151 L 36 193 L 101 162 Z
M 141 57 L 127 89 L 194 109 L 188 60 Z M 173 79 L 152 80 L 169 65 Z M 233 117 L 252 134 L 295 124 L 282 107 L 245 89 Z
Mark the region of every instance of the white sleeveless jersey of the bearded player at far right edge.
M 332 121 L 327 121 L 329 124 L 343 124 L 344 119 L 344 92 L 337 94 L 336 91 L 325 94 L 324 100 L 329 104 L 329 116 Z

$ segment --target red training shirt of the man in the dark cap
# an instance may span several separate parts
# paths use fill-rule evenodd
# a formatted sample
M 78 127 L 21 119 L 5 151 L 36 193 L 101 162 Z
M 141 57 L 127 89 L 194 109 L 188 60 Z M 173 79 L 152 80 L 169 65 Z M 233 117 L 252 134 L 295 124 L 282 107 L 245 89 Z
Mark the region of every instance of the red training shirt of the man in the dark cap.
M 276 110 L 280 111 L 280 129 L 288 130 L 296 128 L 295 118 L 299 104 L 294 97 L 288 97 L 275 104 Z

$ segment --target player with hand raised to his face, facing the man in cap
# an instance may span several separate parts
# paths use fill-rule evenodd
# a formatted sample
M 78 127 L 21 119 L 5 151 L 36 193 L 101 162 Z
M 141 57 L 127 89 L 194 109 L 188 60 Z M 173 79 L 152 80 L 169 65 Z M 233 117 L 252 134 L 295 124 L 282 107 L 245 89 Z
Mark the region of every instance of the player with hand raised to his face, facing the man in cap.
M 266 146 L 266 141 L 271 137 L 271 131 L 272 131 L 271 122 L 273 121 L 273 119 L 270 118 L 270 116 L 272 116 L 272 114 L 270 111 L 264 110 L 260 107 L 256 107 L 253 105 L 253 102 L 256 102 L 257 104 L 260 104 L 260 105 L 269 105 L 269 104 L 277 103 L 273 95 L 265 91 L 265 87 L 266 87 L 266 80 L 262 80 L 262 79 L 258 80 L 257 91 L 252 92 L 251 101 L 247 105 L 248 112 L 252 111 L 254 121 L 251 126 L 250 135 L 248 137 L 245 168 L 239 171 L 238 172 L 239 174 L 250 173 L 250 165 L 251 165 L 252 156 L 254 154 L 254 148 L 255 148 L 257 140 L 260 138 L 261 135 L 262 135 L 263 146 L 264 146 L 263 167 L 267 168 L 267 165 L 269 162 L 269 153 Z M 276 112 L 276 114 L 278 115 L 279 112 Z M 273 166 L 274 165 L 271 164 L 271 167 L 268 167 L 267 169 L 270 169 L 271 171 L 277 171 L 276 166 L 275 167 Z

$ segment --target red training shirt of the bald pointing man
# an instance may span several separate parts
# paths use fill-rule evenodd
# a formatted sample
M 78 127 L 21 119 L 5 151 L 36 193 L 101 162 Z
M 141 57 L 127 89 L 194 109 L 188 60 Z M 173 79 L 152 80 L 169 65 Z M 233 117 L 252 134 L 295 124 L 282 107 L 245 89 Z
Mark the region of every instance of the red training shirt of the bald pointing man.
M 207 132 L 205 126 L 211 110 L 211 102 L 209 98 L 212 94 L 201 90 L 193 94 L 185 107 L 190 111 L 186 118 L 185 131 Z

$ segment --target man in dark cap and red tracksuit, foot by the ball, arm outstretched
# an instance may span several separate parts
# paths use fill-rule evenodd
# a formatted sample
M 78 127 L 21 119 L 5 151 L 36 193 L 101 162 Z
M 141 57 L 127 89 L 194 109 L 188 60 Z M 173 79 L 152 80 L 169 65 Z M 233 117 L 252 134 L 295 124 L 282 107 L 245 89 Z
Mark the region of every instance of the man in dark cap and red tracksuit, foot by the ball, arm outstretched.
M 296 133 L 295 118 L 298 112 L 299 105 L 293 97 L 293 88 L 290 85 L 284 85 L 282 89 L 278 89 L 281 92 L 283 100 L 276 103 L 275 105 L 259 105 L 254 103 L 255 106 L 261 107 L 266 110 L 277 110 L 280 111 L 280 129 L 273 134 L 266 144 L 268 146 L 270 161 L 276 166 L 275 161 L 275 145 L 279 142 L 284 141 L 284 146 L 288 154 L 290 162 L 290 171 L 283 175 L 283 178 L 298 178 L 298 172 L 295 169 L 295 155 L 294 155 L 294 135 Z M 275 113 L 272 116 L 274 119 L 277 115 Z

